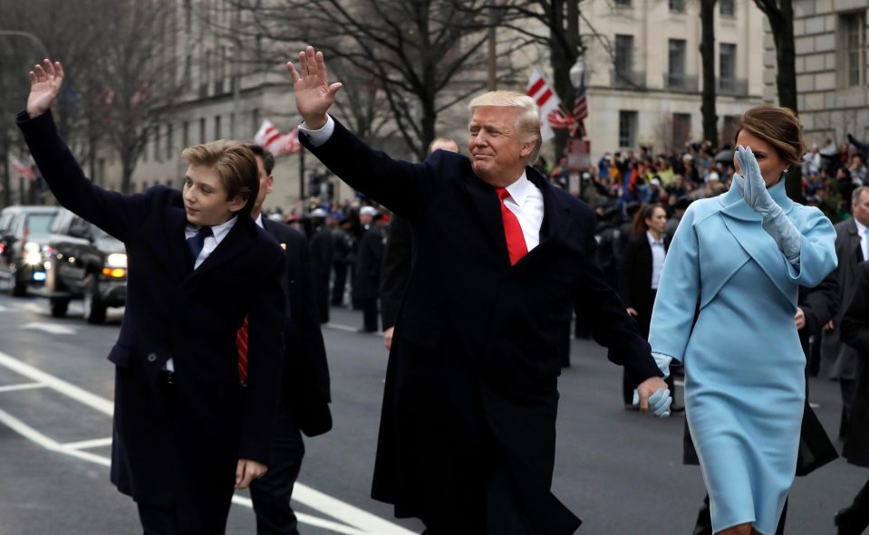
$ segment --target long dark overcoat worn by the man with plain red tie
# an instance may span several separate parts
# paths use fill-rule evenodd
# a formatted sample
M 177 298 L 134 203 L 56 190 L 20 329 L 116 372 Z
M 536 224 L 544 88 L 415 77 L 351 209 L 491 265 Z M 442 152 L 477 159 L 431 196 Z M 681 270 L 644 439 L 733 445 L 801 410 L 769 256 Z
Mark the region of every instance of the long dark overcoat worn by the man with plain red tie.
M 387 368 L 372 496 L 400 517 L 449 517 L 481 499 L 501 459 L 532 530 L 573 533 L 550 492 L 559 340 L 581 320 L 635 377 L 660 377 L 649 345 L 594 262 L 594 213 L 531 167 L 544 197 L 540 244 L 510 265 L 500 202 L 467 157 L 419 164 L 365 146 L 336 121 L 321 147 L 333 173 L 410 221 L 413 260 Z

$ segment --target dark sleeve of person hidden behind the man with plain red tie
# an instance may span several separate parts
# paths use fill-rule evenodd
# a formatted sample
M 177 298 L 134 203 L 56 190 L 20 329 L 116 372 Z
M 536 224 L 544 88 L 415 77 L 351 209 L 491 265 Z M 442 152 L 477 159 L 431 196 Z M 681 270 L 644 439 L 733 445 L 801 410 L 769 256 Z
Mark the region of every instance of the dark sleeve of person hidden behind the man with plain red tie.
M 410 224 L 401 215 L 393 215 L 386 238 L 381 268 L 381 319 L 383 330 L 395 327 L 401 300 L 410 273 Z

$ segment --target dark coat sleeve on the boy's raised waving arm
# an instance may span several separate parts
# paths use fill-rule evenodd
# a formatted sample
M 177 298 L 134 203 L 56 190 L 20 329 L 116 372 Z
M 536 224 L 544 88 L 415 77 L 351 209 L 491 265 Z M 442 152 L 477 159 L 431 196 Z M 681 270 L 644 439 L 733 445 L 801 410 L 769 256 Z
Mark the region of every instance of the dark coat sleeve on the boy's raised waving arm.
M 127 242 L 144 216 L 145 196 L 107 191 L 85 177 L 58 134 L 51 111 L 33 119 L 22 111 L 15 122 L 57 201 L 121 242 Z

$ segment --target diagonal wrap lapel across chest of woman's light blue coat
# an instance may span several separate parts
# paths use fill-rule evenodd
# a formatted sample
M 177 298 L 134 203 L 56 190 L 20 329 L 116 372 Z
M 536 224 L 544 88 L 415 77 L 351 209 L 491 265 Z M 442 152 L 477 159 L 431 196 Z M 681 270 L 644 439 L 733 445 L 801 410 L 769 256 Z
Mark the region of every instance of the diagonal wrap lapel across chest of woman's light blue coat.
M 768 191 L 786 215 L 793 210 L 794 203 L 785 193 L 784 179 L 779 180 L 778 184 L 770 187 Z M 735 184 L 730 186 L 727 194 L 719 197 L 719 202 L 724 206 L 721 214 L 724 215 L 724 224 L 727 225 L 730 234 L 736 238 L 748 256 L 758 263 L 760 269 L 766 273 L 787 301 L 794 301 L 796 304 L 796 288 L 787 282 L 787 277 L 783 276 L 783 273 L 787 273 L 787 260 L 778 250 L 772 236 L 760 226 L 761 216 L 746 204 L 742 192 Z

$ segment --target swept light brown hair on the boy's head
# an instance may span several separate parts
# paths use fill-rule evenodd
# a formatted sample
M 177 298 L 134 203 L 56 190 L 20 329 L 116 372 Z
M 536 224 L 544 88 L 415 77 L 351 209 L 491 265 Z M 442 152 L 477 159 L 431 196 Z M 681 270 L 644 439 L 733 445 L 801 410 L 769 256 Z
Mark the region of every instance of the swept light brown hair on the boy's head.
M 188 166 L 214 169 L 227 190 L 227 201 L 237 196 L 245 198 L 240 211 L 250 213 L 259 194 L 259 167 L 253 150 L 239 141 L 218 139 L 185 148 L 181 158 Z

